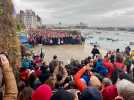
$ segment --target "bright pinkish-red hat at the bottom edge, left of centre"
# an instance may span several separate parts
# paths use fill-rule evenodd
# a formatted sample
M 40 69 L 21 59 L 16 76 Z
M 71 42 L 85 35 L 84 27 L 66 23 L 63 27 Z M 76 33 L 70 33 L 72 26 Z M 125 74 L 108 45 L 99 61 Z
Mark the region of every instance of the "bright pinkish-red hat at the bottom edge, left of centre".
M 52 90 L 50 86 L 43 84 L 32 94 L 32 100 L 50 100 Z

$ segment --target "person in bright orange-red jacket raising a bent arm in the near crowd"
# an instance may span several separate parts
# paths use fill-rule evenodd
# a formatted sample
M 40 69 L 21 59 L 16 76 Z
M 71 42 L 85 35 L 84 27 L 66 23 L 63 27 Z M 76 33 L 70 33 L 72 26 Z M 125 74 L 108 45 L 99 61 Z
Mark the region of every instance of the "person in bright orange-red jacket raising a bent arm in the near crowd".
M 89 65 L 86 65 L 74 75 L 75 85 L 81 92 L 88 88 L 88 86 L 93 86 L 97 89 L 101 88 L 101 82 L 96 76 L 93 75 L 90 70 L 91 67 Z

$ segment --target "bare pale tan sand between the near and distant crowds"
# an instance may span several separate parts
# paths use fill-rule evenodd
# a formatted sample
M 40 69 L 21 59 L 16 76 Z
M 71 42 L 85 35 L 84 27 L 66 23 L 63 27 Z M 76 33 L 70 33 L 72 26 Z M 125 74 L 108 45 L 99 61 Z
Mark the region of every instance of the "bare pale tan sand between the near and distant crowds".
M 78 59 L 79 61 L 85 59 L 90 55 L 92 46 L 82 45 L 58 45 L 58 46 L 42 46 L 38 45 L 34 48 L 34 52 L 37 54 L 41 48 L 45 53 L 44 60 L 50 62 L 54 55 L 58 56 L 58 59 L 69 63 L 71 58 Z

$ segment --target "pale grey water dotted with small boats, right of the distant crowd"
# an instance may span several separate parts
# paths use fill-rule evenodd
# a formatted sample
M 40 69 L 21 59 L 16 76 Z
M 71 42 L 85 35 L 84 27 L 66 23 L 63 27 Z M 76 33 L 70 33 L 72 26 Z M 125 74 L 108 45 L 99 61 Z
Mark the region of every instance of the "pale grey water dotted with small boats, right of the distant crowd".
M 117 48 L 123 51 L 126 46 L 134 49 L 134 45 L 129 45 L 129 42 L 134 42 L 134 32 L 82 30 L 82 33 L 87 37 L 85 44 L 97 42 L 97 44 L 106 51 Z M 113 41 L 110 39 L 113 39 Z

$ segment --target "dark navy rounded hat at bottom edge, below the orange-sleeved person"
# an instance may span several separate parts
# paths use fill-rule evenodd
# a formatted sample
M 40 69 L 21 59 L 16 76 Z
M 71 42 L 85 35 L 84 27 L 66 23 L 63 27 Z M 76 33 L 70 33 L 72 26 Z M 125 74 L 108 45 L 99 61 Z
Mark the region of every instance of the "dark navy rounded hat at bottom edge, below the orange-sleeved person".
M 82 92 L 80 100 L 102 100 L 102 96 L 99 90 L 89 87 Z

